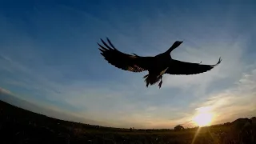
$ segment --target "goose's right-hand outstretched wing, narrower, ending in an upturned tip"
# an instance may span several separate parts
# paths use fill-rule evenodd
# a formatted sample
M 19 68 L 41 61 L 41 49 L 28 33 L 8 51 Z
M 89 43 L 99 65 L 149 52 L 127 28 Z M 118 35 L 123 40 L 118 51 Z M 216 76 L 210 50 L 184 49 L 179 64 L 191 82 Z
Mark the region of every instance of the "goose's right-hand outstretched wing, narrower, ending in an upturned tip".
M 166 74 L 200 74 L 211 70 L 220 62 L 222 62 L 221 58 L 219 58 L 215 65 L 201 65 L 200 63 L 181 62 L 174 59 L 170 62 L 170 67 L 166 70 Z

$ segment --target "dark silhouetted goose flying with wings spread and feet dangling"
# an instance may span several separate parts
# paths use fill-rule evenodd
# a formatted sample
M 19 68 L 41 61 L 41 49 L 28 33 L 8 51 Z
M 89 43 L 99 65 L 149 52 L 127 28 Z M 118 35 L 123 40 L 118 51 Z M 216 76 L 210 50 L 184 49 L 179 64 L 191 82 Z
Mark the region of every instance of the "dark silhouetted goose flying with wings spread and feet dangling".
M 146 87 L 158 83 L 159 89 L 162 86 L 162 75 L 191 75 L 201 74 L 206 71 L 212 70 L 214 66 L 218 66 L 222 62 L 222 58 L 213 65 L 205 65 L 200 63 L 182 62 L 171 58 L 171 52 L 182 44 L 182 41 L 176 41 L 165 52 L 155 56 L 139 56 L 137 54 L 125 54 L 114 47 L 109 38 L 106 38 L 109 45 L 106 44 L 101 38 L 104 46 L 99 44 L 98 49 L 101 51 L 103 58 L 110 63 L 110 65 L 117 67 L 121 70 L 128 70 L 134 73 L 148 71 L 143 78 L 145 78 Z

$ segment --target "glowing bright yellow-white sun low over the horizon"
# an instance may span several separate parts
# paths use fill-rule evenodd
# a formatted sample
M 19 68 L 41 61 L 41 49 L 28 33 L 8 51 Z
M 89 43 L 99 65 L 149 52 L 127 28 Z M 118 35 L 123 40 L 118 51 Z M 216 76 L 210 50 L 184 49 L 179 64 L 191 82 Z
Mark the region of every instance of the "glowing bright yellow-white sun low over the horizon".
M 201 113 L 196 115 L 193 120 L 198 126 L 209 126 L 213 118 L 213 114 Z

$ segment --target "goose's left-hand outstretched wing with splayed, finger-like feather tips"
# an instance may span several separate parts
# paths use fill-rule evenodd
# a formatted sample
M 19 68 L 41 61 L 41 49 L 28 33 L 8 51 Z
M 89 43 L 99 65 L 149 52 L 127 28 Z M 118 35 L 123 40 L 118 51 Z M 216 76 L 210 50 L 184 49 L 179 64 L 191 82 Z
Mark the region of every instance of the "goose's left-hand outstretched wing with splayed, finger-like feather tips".
M 148 70 L 150 67 L 150 63 L 154 57 L 141 57 L 136 54 L 130 55 L 122 53 L 121 51 L 117 50 L 114 45 L 110 42 L 109 38 L 107 41 L 109 42 L 110 46 L 106 44 L 101 39 L 104 46 L 98 44 L 101 48 L 99 50 L 102 51 L 102 56 L 109 62 L 111 65 L 118 67 L 122 70 L 129 70 L 132 72 L 142 72 L 144 70 Z

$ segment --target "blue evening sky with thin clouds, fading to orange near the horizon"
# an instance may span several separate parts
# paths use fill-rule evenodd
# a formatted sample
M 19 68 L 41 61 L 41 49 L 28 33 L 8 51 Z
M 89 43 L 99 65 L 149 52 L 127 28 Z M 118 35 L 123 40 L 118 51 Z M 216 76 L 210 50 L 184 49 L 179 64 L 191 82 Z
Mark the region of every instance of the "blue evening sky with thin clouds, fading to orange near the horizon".
M 0 1 L 0 99 L 101 126 L 194 126 L 200 110 L 212 124 L 256 116 L 256 2 Z M 146 88 L 147 72 L 119 70 L 97 42 L 127 54 L 160 54 L 220 65 L 203 74 L 165 74 Z M 16 100 L 15 100 L 16 99 Z M 17 99 L 20 99 L 18 101 Z M 30 104 L 28 104 L 30 103 Z

